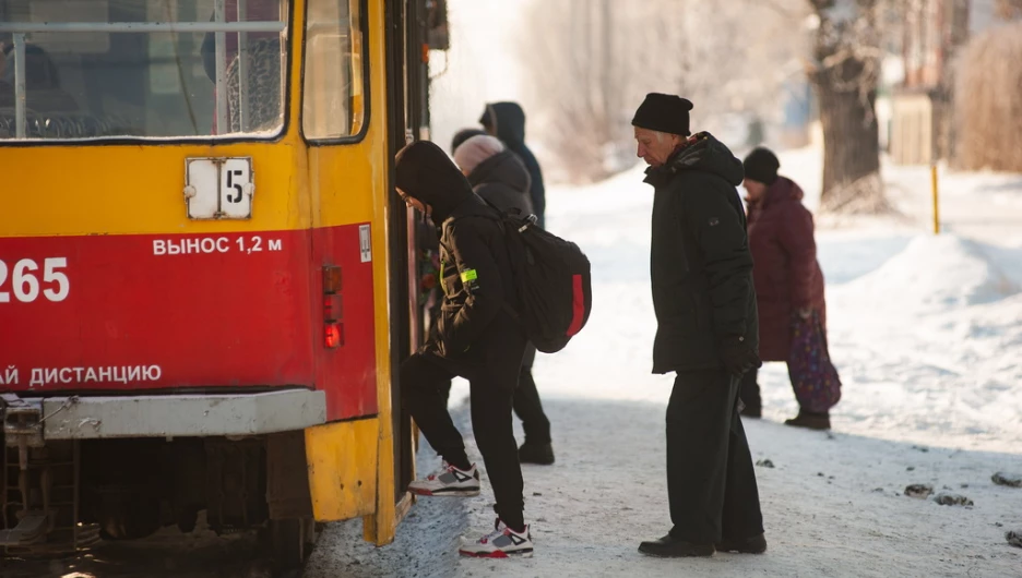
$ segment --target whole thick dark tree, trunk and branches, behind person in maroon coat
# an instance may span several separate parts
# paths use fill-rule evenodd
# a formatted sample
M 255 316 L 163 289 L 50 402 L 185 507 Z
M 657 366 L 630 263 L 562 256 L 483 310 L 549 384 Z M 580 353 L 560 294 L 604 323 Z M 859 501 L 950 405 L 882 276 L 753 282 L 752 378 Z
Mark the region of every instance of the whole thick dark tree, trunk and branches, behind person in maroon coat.
M 809 0 L 818 19 L 808 76 L 823 129 L 820 208 L 835 213 L 890 209 L 880 177 L 876 115 L 880 79 L 879 0 Z

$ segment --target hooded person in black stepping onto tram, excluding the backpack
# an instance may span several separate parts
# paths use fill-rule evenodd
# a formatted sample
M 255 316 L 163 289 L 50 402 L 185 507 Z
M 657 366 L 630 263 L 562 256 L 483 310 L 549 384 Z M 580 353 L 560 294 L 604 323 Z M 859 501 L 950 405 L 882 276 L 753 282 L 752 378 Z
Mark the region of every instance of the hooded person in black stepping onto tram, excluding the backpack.
M 448 155 L 428 141 L 405 146 L 395 166 L 397 194 L 440 224 L 443 302 L 437 330 L 401 366 L 402 402 L 443 459 L 408 490 L 418 495 L 478 495 L 479 473 L 448 412 L 442 387 L 468 380 L 472 428 L 494 486 L 495 530 L 460 549 L 463 555 L 506 557 L 532 553 L 523 509 L 522 468 L 511 406 L 526 337 L 506 311 L 518 306 L 511 263 L 497 212 Z

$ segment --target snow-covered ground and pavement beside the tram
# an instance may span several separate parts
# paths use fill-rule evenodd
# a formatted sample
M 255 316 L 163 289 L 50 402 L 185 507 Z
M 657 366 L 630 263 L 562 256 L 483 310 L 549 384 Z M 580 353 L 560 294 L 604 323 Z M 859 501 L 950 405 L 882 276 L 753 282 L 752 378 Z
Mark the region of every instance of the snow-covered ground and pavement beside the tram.
M 782 155 L 782 173 L 818 204 L 820 154 Z M 669 528 L 664 410 L 669 376 L 650 373 L 651 190 L 641 168 L 587 188 L 548 191 L 551 230 L 593 264 L 589 325 L 535 368 L 557 463 L 526 467 L 536 556 L 480 562 L 460 535 L 492 523 L 492 495 L 420 501 L 394 544 L 332 526 L 306 576 L 1022 576 L 1022 176 L 940 179 L 943 233 L 930 232 L 927 168 L 886 167 L 900 218 L 819 224 L 831 354 L 843 381 L 830 434 L 782 425 L 797 410 L 783 364 L 761 371 L 764 419 L 747 422 L 770 551 L 709 561 L 637 552 Z M 459 384 L 452 409 L 467 424 Z M 521 432 L 519 431 L 519 434 Z M 521 438 L 521 435 L 520 435 Z M 426 448 L 420 468 L 436 458 Z M 478 454 L 475 453 L 478 459 Z M 902 495 L 930 484 L 970 508 Z

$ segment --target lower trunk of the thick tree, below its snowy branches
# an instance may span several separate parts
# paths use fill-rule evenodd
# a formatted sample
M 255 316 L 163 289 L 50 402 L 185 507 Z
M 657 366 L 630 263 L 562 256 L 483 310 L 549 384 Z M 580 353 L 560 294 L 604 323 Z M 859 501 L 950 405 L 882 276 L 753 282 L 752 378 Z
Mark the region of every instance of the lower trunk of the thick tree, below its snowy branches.
M 823 127 L 823 191 L 830 213 L 890 210 L 880 177 L 876 91 L 860 87 L 866 64 L 853 58 L 812 75 Z

